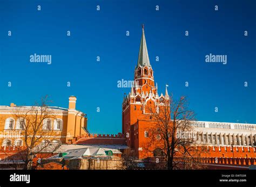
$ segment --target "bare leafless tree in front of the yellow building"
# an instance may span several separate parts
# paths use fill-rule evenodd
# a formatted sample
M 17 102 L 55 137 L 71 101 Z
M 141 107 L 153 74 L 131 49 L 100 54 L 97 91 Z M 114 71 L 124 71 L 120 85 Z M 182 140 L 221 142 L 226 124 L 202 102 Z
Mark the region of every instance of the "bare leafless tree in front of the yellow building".
M 49 106 L 51 100 L 48 96 L 41 99 L 41 102 L 33 106 L 15 106 L 12 116 L 16 119 L 16 132 L 23 141 L 25 150 L 17 152 L 23 160 L 23 169 L 32 169 L 33 157 L 36 153 L 52 148 L 53 141 L 59 142 L 59 135 L 52 128 L 52 121 L 56 120 L 56 113 Z M 18 125 L 18 128 L 17 128 Z M 19 146 L 19 143 L 12 141 L 12 147 Z M 57 147 L 57 146 L 54 146 Z M 17 156 L 10 156 L 9 160 Z

